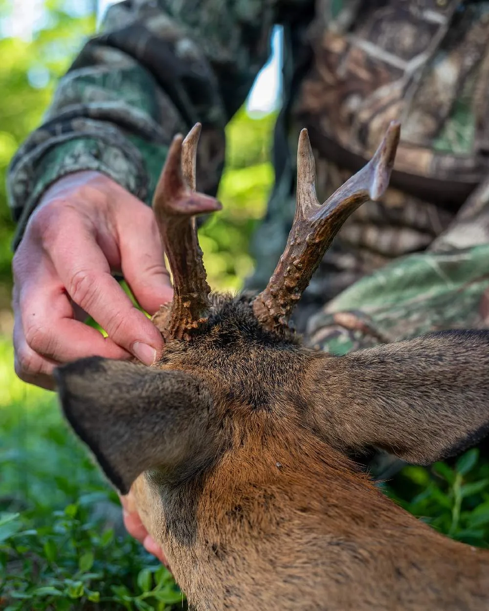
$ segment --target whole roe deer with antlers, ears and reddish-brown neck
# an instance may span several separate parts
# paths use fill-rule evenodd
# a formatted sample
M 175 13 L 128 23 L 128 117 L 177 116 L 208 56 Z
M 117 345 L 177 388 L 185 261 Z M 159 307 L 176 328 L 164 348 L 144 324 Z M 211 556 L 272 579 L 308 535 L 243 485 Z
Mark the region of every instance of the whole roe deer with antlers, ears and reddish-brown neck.
M 320 205 L 307 131 L 293 227 L 258 296 L 210 295 L 194 216 L 196 126 L 176 136 L 153 208 L 174 277 L 151 368 L 59 368 L 62 408 L 198 610 L 489 608 L 489 555 L 436 533 L 347 457 L 376 445 L 427 464 L 489 423 L 489 332 L 438 332 L 333 357 L 289 316 L 348 214 L 386 188 L 392 123 L 364 169 Z M 183 158 L 183 160 L 182 160 Z

